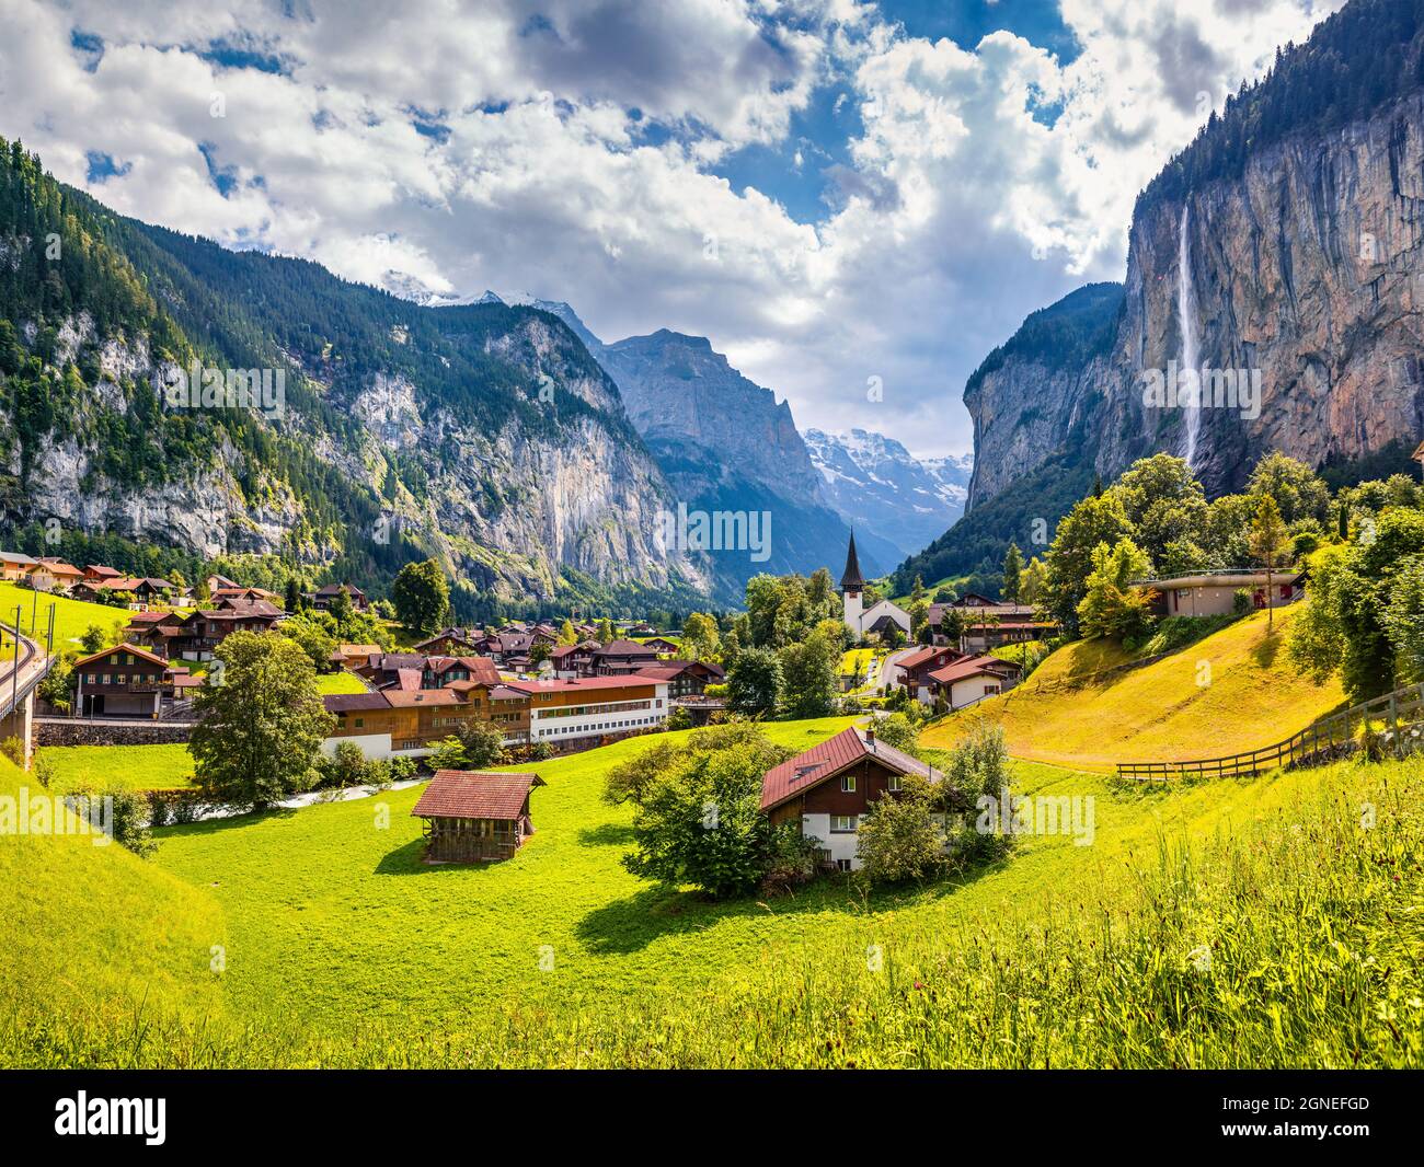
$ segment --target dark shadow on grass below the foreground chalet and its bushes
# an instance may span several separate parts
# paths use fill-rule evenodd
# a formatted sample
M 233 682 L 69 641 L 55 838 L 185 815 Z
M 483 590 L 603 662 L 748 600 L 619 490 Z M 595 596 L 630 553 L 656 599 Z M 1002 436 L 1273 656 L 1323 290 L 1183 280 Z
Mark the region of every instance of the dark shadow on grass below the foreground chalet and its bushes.
M 708 931 L 726 919 L 816 912 L 867 915 L 956 895 L 985 875 L 1002 871 L 1011 861 L 998 860 L 926 884 L 886 888 L 870 888 L 850 875 L 826 874 L 793 892 L 765 898 L 753 892 L 736 899 L 711 899 L 699 891 L 659 884 L 597 908 L 578 922 L 574 934 L 591 952 L 627 954 L 638 952 L 664 936 Z

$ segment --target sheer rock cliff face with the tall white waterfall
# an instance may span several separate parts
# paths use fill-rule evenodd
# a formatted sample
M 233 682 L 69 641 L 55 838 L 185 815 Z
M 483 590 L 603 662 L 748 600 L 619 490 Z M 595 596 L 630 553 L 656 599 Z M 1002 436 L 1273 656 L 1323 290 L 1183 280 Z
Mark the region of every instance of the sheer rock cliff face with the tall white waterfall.
M 1269 450 L 1320 465 L 1417 441 L 1421 243 L 1420 93 L 1334 132 L 1287 137 L 1185 199 L 1143 199 L 1111 339 L 1011 354 L 965 389 L 970 508 L 1064 453 L 1111 480 L 1145 454 L 1190 448 L 1219 494 Z M 1185 357 L 1205 370 L 1195 440 Z

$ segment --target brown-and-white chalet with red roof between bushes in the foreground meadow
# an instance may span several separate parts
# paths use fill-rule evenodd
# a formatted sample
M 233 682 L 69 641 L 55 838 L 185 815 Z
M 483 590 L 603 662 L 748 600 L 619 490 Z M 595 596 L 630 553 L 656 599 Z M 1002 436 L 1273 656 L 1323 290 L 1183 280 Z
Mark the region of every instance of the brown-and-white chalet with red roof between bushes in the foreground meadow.
M 917 774 L 930 783 L 941 774 L 907 753 L 854 726 L 819 746 L 773 766 L 762 776 L 762 813 L 772 823 L 799 823 L 805 838 L 822 847 L 822 864 L 840 871 L 860 867 L 860 820 L 877 798 L 893 798 Z

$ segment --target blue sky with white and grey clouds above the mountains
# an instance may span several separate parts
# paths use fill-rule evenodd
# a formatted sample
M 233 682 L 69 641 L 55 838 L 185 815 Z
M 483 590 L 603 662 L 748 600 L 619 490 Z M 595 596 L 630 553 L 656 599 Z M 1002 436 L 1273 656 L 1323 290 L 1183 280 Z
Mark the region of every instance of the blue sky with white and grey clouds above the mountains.
M 978 361 L 1121 279 L 1141 186 L 1336 6 L 0 0 L 0 134 L 124 213 L 705 334 L 802 428 L 963 453 Z

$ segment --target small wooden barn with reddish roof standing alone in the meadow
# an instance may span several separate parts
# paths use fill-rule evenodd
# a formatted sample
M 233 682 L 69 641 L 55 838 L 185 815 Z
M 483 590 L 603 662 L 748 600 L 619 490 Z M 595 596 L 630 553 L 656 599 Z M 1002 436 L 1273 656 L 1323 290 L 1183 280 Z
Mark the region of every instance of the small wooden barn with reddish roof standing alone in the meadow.
M 538 774 L 437 770 L 410 814 L 424 820 L 426 862 L 508 860 L 534 834 Z

